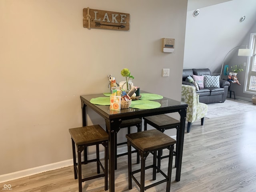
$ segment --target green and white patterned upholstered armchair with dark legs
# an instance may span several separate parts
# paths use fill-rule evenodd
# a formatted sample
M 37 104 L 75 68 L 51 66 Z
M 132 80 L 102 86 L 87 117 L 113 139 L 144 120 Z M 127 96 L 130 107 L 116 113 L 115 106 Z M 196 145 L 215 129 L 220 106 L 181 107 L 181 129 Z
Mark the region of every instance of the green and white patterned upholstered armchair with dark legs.
M 196 120 L 201 119 L 201 125 L 204 124 L 208 106 L 199 102 L 196 87 L 190 85 L 182 85 L 181 101 L 188 104 L 186 121 L 188 121 L 187 132 L 189 133 L 192 123 Z

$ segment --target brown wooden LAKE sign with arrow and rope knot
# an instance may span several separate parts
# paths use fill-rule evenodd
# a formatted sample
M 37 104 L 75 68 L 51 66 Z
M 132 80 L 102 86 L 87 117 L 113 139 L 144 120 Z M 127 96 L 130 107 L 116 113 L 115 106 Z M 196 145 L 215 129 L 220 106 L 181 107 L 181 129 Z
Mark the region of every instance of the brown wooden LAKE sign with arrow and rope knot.
M 97 9 L 83 9 L 84 28 L 112 29 L 128 31 L 130 29 L 130 14 L 104 11 Z

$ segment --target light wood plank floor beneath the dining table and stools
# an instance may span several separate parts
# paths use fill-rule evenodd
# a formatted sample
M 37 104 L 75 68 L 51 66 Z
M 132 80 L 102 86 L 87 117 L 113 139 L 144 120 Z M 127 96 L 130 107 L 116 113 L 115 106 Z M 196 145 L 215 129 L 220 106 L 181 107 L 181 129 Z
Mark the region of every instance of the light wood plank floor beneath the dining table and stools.
M 243 102 L 236 100 L 237 102 Z M 252 104 L 252 102 L 249 102 Z M 223 109 L 228 110 L 228 109 Z M 138 168 L 133 155 L 133 168 Z M 151 157 L 146 160 L 150 164 Z M 162 169 L 167 168 L 162 160 Z M 256 111 L 244 114 L 206 119 L 204 126 L 194 122 L 190 133 L 185 133 L 180 182 L 172 172 L 172 192 L 255 192 L 256 191 Z M 95 164 L 88 164 L 87 172 L 95 172 Z M 128 190 L 127 156 L 118 158 L 116 191 L 136 192 L 139 188 L 132 182 Z M 151 170 L 146 172 L 147 182 Z M 77 192 L 72 166 L 36 174 L 0 184 L 11 184 L 14 192 Z M 150 188 L 148 192 L 164 192 L 166 183 Z M 104 179 L 83 183 L 83 192 L 104 192 Z

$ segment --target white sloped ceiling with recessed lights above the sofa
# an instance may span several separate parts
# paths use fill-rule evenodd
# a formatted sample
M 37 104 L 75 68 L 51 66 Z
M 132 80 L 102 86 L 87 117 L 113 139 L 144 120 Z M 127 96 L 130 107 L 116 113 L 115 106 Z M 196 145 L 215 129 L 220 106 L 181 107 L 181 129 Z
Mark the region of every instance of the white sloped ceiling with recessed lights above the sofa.
M 196 9 L 200 14 L 194 17 Z M 242 16 L 246 16 L 244 22 L 240 22 Z M 220 73 L 225 55 L 245 38 L 249 44 L 255 22 L 256 0 L 188 0 L 183 68 Z

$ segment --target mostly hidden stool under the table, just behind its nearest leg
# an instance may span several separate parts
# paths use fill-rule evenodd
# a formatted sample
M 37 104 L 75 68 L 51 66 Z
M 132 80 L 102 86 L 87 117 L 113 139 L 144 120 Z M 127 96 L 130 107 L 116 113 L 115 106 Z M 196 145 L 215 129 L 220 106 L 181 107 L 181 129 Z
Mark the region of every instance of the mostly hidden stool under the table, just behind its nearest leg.
M 127 132 L 128 134 L 130 134 L 131 132 L 131 127 L 132 126 L 136 126 L 137 127 L 137 132 L 140 132 L 141 131 L 141 124 L 142 124 L 142 120 L 140 118 L 134 118 L 134 119 L 128 119 L 128 120 L 124 120 L 121 122 L 120 126 L 119 126 L 119 129 L 122 129 L 122 128 L 127 128 Z M 122 143 L 118 143 L 117 142 L 117 133 L 115 133 L 115 169 L 117 169 L 117 158 L 120 157 L 120 156 L 124 156 L 124 155 L 127 155 L 128 152 L 125 152 L 125 153 L 122 153 L 122 154 L 117 154 L 117 146 L 120 146 L 120 145 L 124 145 L 124 144 L 127 144 L 127 142 L 122 142 Z M 132 151 L 133 153 L 136 152 L 136 150 Z M 140 154 L 137 153 L 137 164 L 140 163 Z

